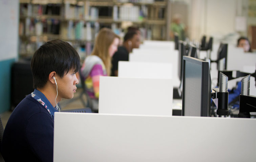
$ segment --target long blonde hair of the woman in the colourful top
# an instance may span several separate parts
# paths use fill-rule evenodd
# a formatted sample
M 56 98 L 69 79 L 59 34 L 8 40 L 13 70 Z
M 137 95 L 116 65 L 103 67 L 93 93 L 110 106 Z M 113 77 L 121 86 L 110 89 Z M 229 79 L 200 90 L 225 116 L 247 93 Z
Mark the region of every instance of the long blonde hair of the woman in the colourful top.
M 93 50 L 91 52 L 91 55 L 97 55 L 101 58 L 108 75 L 110 75 L 111 70 L 111 57 L 108 51 L 110 45 L 113 43 L 115 38 L 120 39 L 120 37 L 115 34 L 111 29 L 102 28 L 98 33 Z

